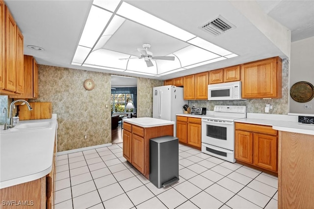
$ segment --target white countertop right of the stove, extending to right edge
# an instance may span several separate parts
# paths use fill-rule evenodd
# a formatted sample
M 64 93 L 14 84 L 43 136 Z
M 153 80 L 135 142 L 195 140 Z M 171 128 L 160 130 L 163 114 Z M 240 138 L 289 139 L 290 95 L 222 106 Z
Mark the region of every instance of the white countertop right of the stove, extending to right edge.
M 274 130 L 314 135 L 314 124 L 298 123 L 297 116 L 248 113 L 235 122 L 272 126 Z

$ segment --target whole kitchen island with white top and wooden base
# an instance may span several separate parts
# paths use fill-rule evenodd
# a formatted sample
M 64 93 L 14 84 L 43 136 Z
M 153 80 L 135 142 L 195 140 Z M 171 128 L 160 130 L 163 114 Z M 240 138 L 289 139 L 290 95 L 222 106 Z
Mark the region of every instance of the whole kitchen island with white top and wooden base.
M 147 179 L 150 172 L 149 140 L 173 136 L 174 124 L 173 121 L 149 117 L 123 119 L 123 157 Z

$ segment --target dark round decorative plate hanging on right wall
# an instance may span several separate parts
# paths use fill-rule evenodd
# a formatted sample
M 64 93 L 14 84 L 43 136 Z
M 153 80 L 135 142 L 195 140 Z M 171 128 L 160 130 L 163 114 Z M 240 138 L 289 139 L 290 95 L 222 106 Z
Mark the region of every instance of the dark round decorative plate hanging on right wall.
M 298 103 L 306 103 L 314 98 L 314 86 L 307 81 L 294 83 L 290 88 L 291 98 Z

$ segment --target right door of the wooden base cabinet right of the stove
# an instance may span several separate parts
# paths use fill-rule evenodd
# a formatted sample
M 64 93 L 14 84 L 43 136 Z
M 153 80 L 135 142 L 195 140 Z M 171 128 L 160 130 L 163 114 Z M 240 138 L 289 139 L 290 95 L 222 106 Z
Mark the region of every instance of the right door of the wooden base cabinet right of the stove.
M 254 133 L 254 165 L 277 171 L 277 136 Z

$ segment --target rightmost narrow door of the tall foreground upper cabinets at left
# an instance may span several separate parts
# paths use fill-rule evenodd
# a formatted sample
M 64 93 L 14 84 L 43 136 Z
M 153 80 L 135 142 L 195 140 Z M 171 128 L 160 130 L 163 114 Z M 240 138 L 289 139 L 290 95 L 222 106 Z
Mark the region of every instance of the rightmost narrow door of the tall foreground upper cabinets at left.
M 24 92 L 24 38 L 18 26 L 16 30 L 16 93 L 22 94 Z

